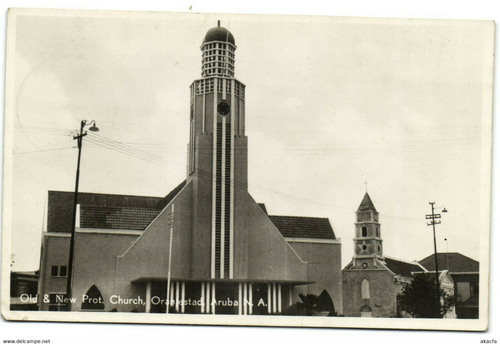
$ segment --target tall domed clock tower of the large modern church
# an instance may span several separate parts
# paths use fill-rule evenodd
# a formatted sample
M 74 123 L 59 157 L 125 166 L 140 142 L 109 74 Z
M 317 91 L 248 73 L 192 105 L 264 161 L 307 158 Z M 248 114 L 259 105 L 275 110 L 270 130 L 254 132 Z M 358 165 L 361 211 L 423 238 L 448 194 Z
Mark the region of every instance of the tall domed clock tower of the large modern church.
M 200 49 L 201 78 L 190 86 L 186 171 L 199 205 L 193 210 L 193 226 L 200 246 L 193 251 L 210 247 L 210 278 L 231 279 L 234 204 L 247 183 L 245 85 L 234 78 L 236 45 L 220 20 L 206 32 Z M 192 270 L 199 267 L 198 262 Z

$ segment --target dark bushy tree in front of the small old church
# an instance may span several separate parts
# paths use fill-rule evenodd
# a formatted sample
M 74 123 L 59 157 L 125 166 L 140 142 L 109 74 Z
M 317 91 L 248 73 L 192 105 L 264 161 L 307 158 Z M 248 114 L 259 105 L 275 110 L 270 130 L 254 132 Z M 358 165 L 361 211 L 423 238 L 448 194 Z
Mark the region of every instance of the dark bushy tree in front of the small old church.
M 453 307 L 453 296 L 446 294 L 430 276 L 415 274 L 413 282 L 397 296 L 397 304 L 414 318 L 442 319 Z

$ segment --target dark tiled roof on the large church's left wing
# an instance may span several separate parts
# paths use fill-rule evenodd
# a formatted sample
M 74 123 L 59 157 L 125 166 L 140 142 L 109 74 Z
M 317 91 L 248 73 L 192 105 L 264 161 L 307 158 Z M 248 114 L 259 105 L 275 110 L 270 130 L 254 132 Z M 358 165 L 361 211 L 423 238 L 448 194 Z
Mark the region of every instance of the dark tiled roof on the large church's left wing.
M 143 230 L 184 185 L 185 180 L 165 197 L 78 192 L 80 227 Z M 48 232 L 71 232 L 73 197 L 73 192 L 48 192 Z

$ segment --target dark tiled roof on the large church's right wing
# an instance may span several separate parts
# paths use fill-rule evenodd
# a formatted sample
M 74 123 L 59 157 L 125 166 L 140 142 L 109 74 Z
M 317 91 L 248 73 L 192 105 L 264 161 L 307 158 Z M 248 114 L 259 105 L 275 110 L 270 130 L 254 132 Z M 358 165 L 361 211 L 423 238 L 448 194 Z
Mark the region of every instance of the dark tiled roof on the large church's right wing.
M 285 238 L 335 239 L 327 218 L 275 215 L 267 217 Z

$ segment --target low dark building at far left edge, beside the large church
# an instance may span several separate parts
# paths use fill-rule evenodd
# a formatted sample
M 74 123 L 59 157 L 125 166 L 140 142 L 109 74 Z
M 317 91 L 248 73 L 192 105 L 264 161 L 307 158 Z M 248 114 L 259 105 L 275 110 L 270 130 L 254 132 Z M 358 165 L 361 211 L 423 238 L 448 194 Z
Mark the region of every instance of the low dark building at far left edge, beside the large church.
M 10 272 L 10 310 L 37 311 L 38 271 Z

